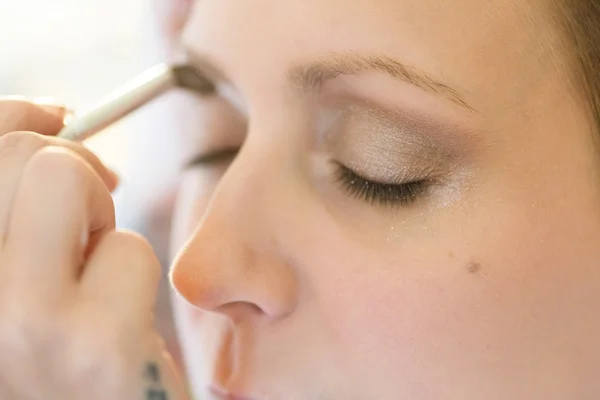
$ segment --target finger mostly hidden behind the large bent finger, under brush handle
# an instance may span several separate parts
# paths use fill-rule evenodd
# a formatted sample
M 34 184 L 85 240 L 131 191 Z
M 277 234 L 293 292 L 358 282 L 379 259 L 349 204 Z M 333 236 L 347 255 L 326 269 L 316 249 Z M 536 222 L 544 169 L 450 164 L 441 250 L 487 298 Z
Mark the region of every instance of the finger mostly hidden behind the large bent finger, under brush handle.
M 41 136 L 32 132 L 11 132 L 0 137 L 0 243 L 8 229 L 8 220 L 21 175 L 31 157 L 46 146 L 62 146 L 79 154 L 98 173 L 110 191 L 118 180 L 92 152 L 80 144 Z M 47 177 L 43 178 L 44 180 Z M 43 198 L 38 199 L 40 203 Z M 41 204 L 40 204 L 41 205 Z

